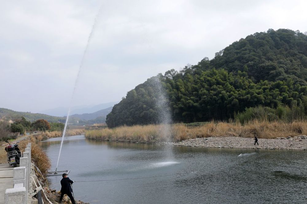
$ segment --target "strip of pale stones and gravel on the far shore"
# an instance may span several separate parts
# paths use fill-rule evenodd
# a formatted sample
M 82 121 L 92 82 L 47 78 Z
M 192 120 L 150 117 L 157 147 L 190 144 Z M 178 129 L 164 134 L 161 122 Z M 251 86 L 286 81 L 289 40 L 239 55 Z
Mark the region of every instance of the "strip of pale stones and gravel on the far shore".
M 187 147 L 216 147 L 216 148 L 244 148 L 244 149 L 283 149 L 283 150 L 307 150 L 307 136 L 298 135 L 295 137 L 276 139 L 258 138 L 259 145 L 254 145 L 253 138 L 243 137 L 207 137 L 187 139 L 173 145 Z

